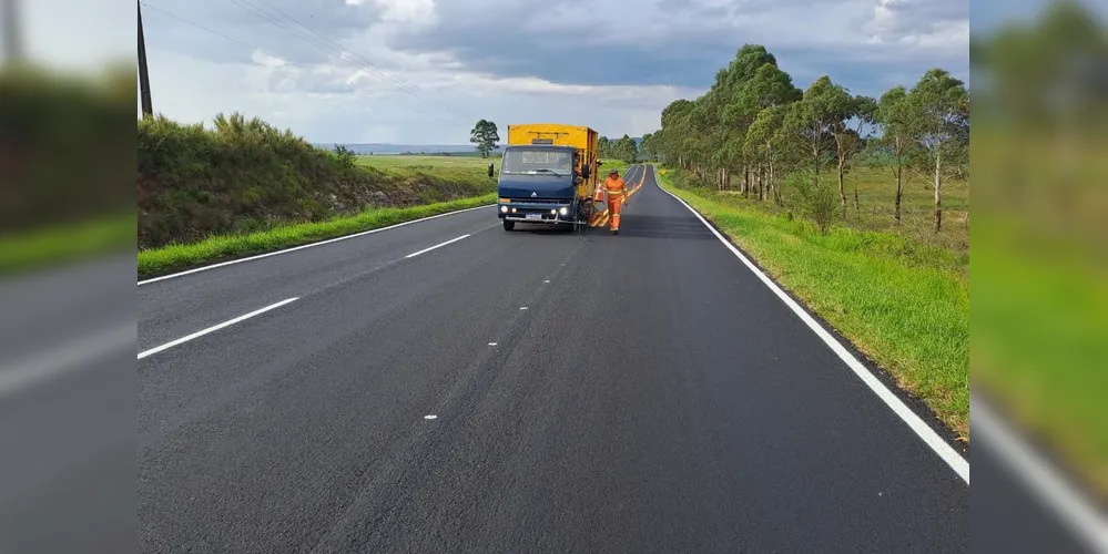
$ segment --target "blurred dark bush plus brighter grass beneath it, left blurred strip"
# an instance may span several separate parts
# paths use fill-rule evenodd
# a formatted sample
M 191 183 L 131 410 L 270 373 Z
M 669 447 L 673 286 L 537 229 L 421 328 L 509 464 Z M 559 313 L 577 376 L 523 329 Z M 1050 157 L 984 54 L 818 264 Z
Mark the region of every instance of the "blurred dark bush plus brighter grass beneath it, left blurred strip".
M 134 247 L 133 86 L 122 69 L 0 68 L 0 274 Z

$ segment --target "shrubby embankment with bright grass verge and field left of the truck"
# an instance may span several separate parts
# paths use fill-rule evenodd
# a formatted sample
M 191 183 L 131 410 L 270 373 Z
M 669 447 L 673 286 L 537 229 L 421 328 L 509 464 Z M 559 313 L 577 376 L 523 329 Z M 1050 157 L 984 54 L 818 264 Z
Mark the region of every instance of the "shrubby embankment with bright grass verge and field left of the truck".
M 139 278 L 496 202 L 477 157 L 336 155 L 237 116 L 139 129 Z

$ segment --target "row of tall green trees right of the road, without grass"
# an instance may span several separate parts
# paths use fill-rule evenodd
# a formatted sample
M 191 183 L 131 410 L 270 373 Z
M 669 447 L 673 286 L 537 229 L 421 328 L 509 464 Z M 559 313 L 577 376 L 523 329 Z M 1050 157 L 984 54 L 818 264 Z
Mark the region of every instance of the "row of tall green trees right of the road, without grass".
M 836 199 L 846 216 L 844 176 L 862 160 L 881 158 L 891 168 L 897 223 L 905 172 L 926 174 L 936 232 L 943 225 L 943 183 L 968 176 L 968 92 L 942 69 L 927 71 L 911 90 L 895 86 L 880 99 L 854 95 L 827 75 L 801 91 L 764 47 L 744 44 L 707 93 L 662 110 L 661 124 L 643 135 L 640 155 L 714 181 L 721 191 L 738 188 L 777 205 L 785 202 L 782 183 L 793 184 L 824 230 Z M 837 195 L 825 191 L 829 174 Z

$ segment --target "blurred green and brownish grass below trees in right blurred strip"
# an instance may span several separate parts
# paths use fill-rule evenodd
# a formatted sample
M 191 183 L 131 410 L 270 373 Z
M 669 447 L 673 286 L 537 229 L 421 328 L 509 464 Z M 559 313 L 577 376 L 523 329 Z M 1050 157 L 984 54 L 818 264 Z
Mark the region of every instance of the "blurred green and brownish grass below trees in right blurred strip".
M 973 141 L 989 207 L 975 233 L 974 390 L 1108 502 L 1108 140 L 1025 124 Z

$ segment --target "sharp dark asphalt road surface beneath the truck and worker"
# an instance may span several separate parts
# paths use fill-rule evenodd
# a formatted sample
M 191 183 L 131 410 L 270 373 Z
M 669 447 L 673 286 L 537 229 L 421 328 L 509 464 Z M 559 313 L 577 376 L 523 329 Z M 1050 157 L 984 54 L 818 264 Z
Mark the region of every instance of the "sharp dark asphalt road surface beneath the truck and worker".
M 619 236 L 480 208 L 143 284 L 138 340 L 140 552 L 970 544 L 966 482 L 649 172 Z

